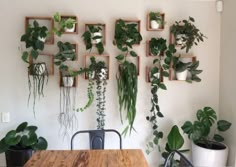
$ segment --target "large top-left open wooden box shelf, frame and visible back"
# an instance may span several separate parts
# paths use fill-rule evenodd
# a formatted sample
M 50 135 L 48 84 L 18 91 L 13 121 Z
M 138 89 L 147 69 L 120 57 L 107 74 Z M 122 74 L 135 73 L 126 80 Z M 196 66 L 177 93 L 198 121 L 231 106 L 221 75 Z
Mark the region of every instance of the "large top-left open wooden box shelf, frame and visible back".
M 54 44 L 54 33 L 53 33 L 53 27 L 54 22 L 52 17 L 41 17 L 41 16 L 26 16 L 25 17 L 25 31 L 29 24 L 32 24 L 32 21 L 38 21 L 39 25 L 46 26 L 49 31 L 49 37 L 46 39 L 45 44 Z

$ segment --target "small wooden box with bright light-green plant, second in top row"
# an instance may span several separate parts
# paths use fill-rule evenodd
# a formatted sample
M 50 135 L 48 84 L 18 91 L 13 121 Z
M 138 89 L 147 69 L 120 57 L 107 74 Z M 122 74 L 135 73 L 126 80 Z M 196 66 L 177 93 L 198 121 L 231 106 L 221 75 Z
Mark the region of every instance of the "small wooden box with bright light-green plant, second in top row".
M 53 31 L 57 36 L 62 34 L 78 34 L 78 19 L 72 15 L 61 15 L 56 13 L 53 16 L 54 21 L 57 23 Z

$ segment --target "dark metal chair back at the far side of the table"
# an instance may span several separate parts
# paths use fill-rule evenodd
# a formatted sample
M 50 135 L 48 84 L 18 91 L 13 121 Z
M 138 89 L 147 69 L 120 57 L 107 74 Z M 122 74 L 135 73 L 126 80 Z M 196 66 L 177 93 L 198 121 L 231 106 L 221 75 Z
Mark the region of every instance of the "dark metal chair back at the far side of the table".
M 95 150 L 95 149 L 104 149 L 104 141 L 105 141 L 105 133 L 107 132 L 113 132 L 119 136 L 120 140 L 120 149 L 122 149 L 122 139 L 121 135 L 118 131 L 113 130 L 113 129 L 101 129 L 101 130 L 82 130 L 78 131 L 73 134 L 71 138 L 71 150 L 73 150 L 73 143 L 74 143 L 74 138 L 78 134 L 81 133 L 88 133 L 89 134 L 89 145 L 90 149 Z

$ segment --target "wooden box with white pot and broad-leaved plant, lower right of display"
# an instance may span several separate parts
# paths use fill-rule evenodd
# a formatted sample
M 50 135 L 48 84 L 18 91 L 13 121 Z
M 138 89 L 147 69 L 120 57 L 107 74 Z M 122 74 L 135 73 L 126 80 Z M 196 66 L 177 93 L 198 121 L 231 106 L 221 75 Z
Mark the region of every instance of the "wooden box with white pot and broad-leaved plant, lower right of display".
M 198 77 L 202 70 L 198 69 L 199 61 L 195 56 L 176 56 L 170 68 L 169 80 L 187 81 L 189 83 L 201 82 Z

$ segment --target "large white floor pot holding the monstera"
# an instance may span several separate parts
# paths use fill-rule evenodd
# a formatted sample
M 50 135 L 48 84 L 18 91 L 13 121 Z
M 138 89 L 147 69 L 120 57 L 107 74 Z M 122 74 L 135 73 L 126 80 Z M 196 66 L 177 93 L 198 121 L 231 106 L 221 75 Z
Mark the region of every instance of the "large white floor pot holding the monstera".
M 213 150 L 192 143 L 192 160 L 194 166 L 225 167 L 228 157 L 228 147 L 220 143 L 222 149 Z

